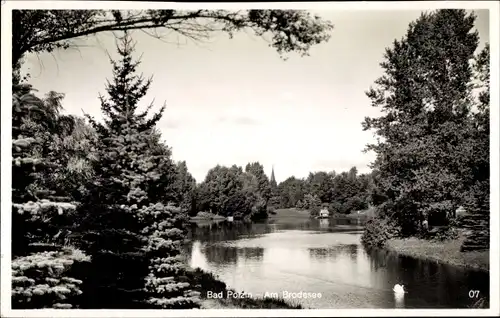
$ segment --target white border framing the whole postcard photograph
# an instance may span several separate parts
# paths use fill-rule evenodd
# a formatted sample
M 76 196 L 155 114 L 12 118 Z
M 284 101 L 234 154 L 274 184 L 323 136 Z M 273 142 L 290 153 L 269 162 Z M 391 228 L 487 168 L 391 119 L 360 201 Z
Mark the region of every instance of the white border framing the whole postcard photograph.
M 314 9 L 314 10 L 430 10 L 438 8 L 464 8 L 490 10 L 491 45 L 491 243 L 490 243 L 490 299 L 488 310 L 453 309 L 305 309 L 305 310 L 11 310 L 10 309 L 10 249 L 11 240 L 11 10 L 12 9 Z M 500 313 L 498 291 L 499 266 L 499 3 L 496 1 L 415 1 L 415 2 L 296 2 L 296 3 L 160 3 L 160 2 L 108 2 L 108 1 L 2 1 L 2 107 L 1 107 L 1 313 L 5 317 L 332 317 L 332 316 L 496 316 Z M 332 21 L 335 24 L 335 21 Z M 9 43 L 9 46 L 7 46 Z M 381 53 L 382 54 L 382 53 Z M 277 57 L 278 58 L 278 57 Z M 495 87 L 497 89 L 495 89 Z M 495 195 L 496 193 L 496 195 Z

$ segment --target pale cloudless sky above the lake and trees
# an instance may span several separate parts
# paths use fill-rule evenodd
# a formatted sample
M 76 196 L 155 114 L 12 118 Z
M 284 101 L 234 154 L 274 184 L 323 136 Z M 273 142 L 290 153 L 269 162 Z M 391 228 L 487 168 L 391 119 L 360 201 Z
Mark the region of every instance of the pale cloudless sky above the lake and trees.
M 278 182 L 313 171 L 368 172 L 374 141 L 363 119 L 379 116 L 365 91 L 382 75 L 386 47 L 406 33 L 421 11 L 314 11 L 334 24 L 327 43 L 310 56 L 287 61 L 263 39 L 239 33 L 215 34 L 195 44 L 172 35 L 168 41 L 133 33 L 139 71 L 153 83 L 141 104 L 167 108 L 158 124 L 172 147 L 201 182 L 217 164 L 245 166 L 259 161 Z M 489 41 L 487 10 L 476 11 L 481 46 Z M 111 79 L 108 53 L 116 57 L 111 33 L 79 39 L 79 48 L 29 55 L 23 70 L 46 93 L 64 93 L 66 113 L 82 110 L 102 118 L 98 94 Z

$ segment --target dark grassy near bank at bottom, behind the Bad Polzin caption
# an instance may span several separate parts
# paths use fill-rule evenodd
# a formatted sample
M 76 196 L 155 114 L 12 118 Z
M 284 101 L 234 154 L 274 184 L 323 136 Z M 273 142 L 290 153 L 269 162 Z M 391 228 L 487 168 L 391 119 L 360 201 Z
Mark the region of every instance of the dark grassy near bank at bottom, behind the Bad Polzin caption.
M 213 274 L 199 268 L 189 274 L 190 282 L 196 291 L 201 293 L 203 309 L 302 309 L 302 306 L 290 304 L 278 298 L 234 298 L 228 297 L 228 292 L 237 294 L 233 289 L 228 289 L 226 284 L 217 279 Z M 208 298 L 207 293 L 222 293 L 222 298 Z

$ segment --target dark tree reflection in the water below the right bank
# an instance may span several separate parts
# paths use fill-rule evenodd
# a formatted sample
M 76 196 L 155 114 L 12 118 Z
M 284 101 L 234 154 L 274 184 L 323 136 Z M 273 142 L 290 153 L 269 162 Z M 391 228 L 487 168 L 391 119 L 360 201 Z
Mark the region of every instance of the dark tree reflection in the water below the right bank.
M 489 276 L 485 273 L 466 271 L 432 261 L 399 256 L 384 249 L 366 249 L 372 272 L 378 272 L 377 283 L 383 288 L 404 284 L 408 295 L 407 307 L 465 308 L 473 302 L 471 289 L 488 295 Z

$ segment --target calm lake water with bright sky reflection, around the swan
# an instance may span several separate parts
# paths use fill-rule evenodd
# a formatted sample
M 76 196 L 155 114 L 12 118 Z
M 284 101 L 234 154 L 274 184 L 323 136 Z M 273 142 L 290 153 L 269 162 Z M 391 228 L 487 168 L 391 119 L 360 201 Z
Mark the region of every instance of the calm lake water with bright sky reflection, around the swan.
M 434 262 L 367 252 L 356 220 L 193 225 L 193 267 L 254 297 L 309 292 L 288 299 L 308 308 L 465 308 L 470 290 L 487 295 L 489 275 Z M 407 294 L 396 298 L 392 287 Z

